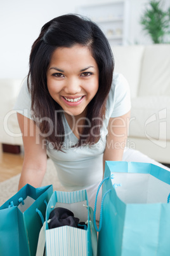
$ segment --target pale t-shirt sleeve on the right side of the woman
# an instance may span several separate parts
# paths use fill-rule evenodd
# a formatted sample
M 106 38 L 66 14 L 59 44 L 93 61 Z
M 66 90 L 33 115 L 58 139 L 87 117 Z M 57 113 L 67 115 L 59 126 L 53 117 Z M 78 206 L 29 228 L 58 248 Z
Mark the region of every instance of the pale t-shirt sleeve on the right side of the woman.
M 110 117 L 121 117 L 131 110 L 129 84 L 121 74 L 114 75 L 108 104 L 110 105 Z

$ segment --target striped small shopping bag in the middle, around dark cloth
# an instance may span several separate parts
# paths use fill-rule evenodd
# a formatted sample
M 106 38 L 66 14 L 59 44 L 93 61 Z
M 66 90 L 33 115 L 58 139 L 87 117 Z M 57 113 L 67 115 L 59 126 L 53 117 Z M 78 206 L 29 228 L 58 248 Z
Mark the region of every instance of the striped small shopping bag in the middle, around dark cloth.
M 49 229 L 49 216 L 55 208 L 72 211 L 80 222 L 86 223 L 86 229 L 70 225 Z M 44 245 L 47 256 L 96 255 L 97 236 L 90 215 L 93 219 L 93 210 L 89 207 L 86 190 L 53 192 L 46 210 L 46 221 L 39 235 L 36 256 L 44 255 Z

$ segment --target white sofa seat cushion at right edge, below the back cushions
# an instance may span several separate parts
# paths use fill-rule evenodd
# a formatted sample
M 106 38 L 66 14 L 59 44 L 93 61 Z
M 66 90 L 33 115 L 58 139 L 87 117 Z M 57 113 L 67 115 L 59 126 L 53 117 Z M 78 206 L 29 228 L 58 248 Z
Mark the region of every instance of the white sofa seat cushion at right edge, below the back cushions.
M 170 96 L 132 99 L 129 136 L 170 141 Z

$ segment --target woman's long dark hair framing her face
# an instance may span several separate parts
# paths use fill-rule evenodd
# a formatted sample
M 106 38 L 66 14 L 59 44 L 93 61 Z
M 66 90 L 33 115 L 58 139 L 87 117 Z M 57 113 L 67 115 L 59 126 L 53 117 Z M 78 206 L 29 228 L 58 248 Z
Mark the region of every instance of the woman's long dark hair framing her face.
M 88 18 L 67 14 L 53 18 L 42 27 L 30 52 L 27 83 L 32 99 L 33 117 L 34 120 L 41 120 L 39 129 L 42 134 L 46 134 L 46 139 L 53 143 L 56 150 L 62 150 L 65 131 L 62 111 L 60 111 L 62 108 L 48 92 L 46 72 L 56 48 L 60 46 L 70 48 L 77 44 L 88 46 L 99 69 L 98 92 L 88 104 L 86 114 L 91 125 L 89 127 L 85 121 L 84 129 L 77 143 L 77 146 L 82 145 L 82 142 L 91 145 L 100 138 L 107 96 L 112 85 L 114 58 L 107 38 L 98 25 Z M 48 117 L 48 120 L 44 120 L 44 117 L 45 119 Z M 53 124 L 54 127 L 52 131 L 50 124 Z M 91 132 L 92 129 L 93 132 Z

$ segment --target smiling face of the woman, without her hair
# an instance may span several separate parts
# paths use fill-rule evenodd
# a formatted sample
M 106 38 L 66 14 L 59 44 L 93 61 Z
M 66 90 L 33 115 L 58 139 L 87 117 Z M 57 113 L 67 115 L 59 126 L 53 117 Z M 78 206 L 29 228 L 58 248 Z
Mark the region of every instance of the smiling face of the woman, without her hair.
M 69 115 L 86 116 L 98 79 L 98 65 L 88 47 L 59 47 L 53 52 L 47 71 L 49 94 Z

